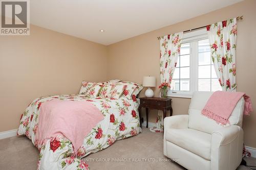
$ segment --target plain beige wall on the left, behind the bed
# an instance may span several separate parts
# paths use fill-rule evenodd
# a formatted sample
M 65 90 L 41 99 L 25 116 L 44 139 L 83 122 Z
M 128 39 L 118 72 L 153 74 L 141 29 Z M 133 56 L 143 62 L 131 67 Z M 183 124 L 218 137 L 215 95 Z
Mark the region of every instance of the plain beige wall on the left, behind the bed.
M 106 80 L 106 46 L 31 26 L 0 36 L 0 132 L 18 128 L 39 96 L 78 93 L 82 80 Z

